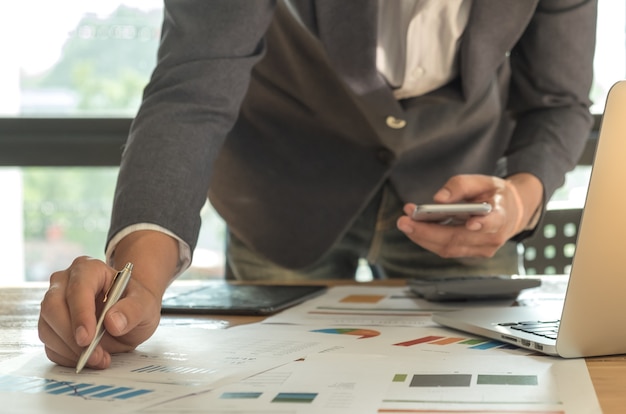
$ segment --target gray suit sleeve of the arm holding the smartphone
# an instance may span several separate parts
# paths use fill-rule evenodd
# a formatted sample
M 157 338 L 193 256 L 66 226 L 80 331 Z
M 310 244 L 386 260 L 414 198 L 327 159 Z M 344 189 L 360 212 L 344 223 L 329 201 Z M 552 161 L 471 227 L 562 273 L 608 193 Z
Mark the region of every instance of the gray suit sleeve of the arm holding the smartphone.
M 596 0 L 540 1 L 511 51 L 516 127 L 507 170 L 539 177 L 546 201 L 576 166 L 592 125 L 596 12 Z

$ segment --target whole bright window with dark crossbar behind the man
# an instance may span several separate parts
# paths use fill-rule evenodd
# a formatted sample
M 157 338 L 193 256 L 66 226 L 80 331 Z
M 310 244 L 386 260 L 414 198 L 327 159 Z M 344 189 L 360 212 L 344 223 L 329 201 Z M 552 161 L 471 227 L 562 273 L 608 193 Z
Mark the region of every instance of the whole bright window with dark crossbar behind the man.
M 103 257 L 119 149 L 156 61 L 162 0 L 20 0 L 0 16 L 0 283 L 47 280 Z M 601 1 L 593 111 L 626 75 L 626 3 Z M 580 207 L 590 168 L 551 205 Z M 207 205 L 194 266 L 221 275 L 224 225 Z

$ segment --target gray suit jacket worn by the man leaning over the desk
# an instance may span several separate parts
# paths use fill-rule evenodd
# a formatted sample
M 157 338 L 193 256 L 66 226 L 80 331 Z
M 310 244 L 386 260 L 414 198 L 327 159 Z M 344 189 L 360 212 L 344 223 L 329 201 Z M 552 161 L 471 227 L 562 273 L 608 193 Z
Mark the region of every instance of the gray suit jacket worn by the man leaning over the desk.
M 377 4 L 166 0 L 109 237 L 150 222 L 193 249 L 210 190 L 242 240 L 303 267 L 385 181 L 425 202 L 454 174 L 530 172 L 547 200 L 591 126 L 596 1 L 474 0 L 459 78 L 402 101 L 376 71 Z

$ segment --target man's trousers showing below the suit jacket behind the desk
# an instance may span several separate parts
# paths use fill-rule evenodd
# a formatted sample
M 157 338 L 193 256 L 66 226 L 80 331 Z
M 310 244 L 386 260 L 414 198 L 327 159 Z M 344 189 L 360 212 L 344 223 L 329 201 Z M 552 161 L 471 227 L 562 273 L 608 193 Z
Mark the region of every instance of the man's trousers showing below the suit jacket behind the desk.
M 269 261 L 229 231 L 226 278 L 241 281 L 356 279 L 357 270 L 364 262 L 375 279 L 521 272 L 522 254 L 517 242 L 505 243 L 491 258 L 442 258 L 416 245 L 396 227 L 403 205 L 393 186 L 383 185 L 328 252 L 302 269 L 288 269 Z

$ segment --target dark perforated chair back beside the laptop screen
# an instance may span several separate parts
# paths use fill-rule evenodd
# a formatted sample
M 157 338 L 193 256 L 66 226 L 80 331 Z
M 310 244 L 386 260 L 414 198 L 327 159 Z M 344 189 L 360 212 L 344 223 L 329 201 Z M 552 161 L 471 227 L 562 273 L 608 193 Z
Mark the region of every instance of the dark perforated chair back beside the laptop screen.
M 569 274 L 582 209 L 547 210 L 532 237 L 523 242 L 527 275 Z

